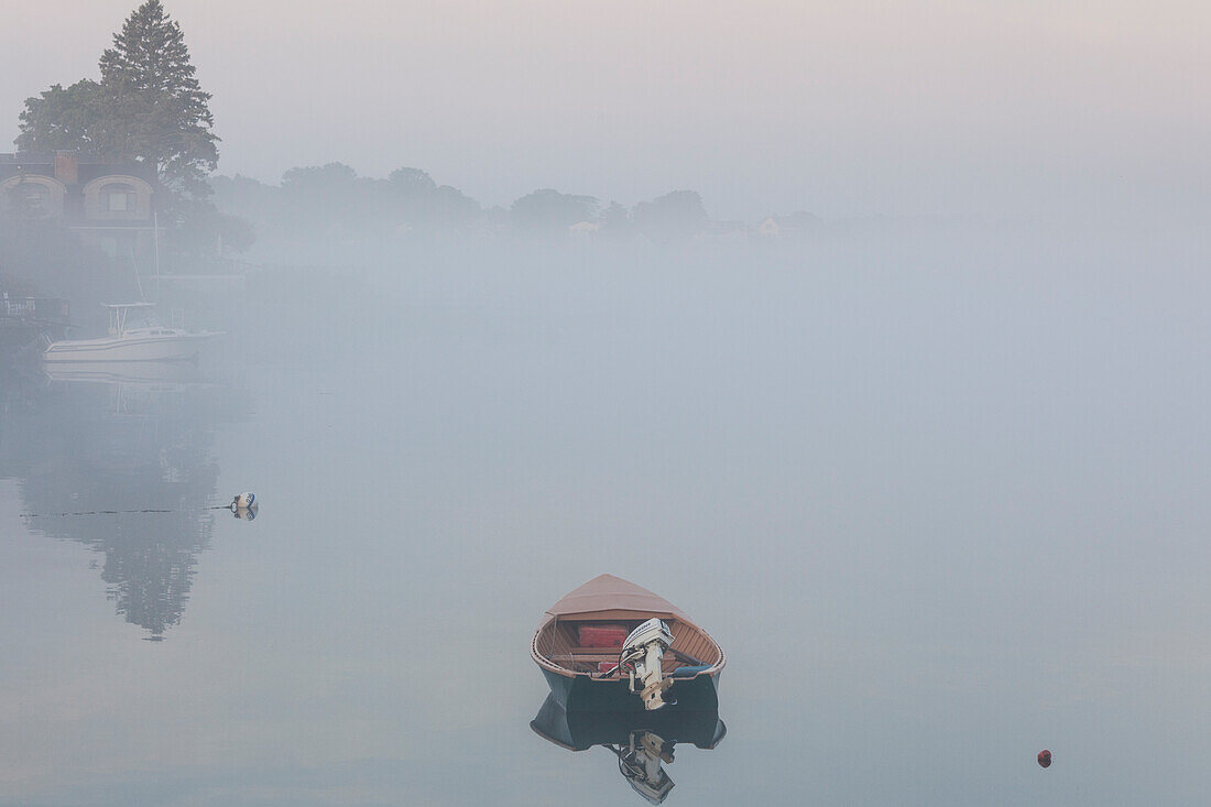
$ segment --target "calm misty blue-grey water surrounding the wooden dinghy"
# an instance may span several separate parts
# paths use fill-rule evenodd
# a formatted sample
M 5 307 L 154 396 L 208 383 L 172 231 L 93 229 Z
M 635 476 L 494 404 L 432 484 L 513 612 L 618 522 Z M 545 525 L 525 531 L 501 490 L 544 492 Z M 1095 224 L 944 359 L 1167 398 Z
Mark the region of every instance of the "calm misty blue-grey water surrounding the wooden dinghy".
M 529 728 L 601 572 L 729 653 L 668 805 L 1200 802 L 1206 256 L 375 257 L 8 373 L 0 805 L 643 803 Z

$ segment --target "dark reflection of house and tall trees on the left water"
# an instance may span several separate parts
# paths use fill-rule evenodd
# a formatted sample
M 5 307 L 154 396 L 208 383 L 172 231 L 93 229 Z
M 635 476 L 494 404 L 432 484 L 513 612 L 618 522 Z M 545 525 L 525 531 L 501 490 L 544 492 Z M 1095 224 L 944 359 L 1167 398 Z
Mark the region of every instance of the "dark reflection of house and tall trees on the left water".
M 29 530 L 104 554 L 115 609 L 154 641 L 180 623 L 210 546 L 214 433 L 248 411 L 241 397 L 153 362 L 10 379 L 0 396 L 0 477 L 18 480 Z

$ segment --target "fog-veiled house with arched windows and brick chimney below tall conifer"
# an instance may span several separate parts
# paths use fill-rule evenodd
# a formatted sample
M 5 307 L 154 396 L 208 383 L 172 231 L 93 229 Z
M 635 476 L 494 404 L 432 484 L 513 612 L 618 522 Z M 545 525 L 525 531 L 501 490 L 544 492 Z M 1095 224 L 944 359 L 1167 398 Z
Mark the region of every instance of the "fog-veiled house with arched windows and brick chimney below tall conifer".
M 61 222 L 114 258 L 139 261 L 154 248 L 155 187 L 155 166 L 143 162 L 0 154 L 0 216 Z

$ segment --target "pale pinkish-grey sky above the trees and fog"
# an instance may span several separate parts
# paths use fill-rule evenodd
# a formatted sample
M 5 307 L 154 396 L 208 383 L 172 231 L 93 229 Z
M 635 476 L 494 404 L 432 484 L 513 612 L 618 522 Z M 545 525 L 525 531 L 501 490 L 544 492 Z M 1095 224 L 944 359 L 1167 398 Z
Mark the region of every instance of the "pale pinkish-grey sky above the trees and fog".
M 0 148 L 137 0 L 0 0 Z M 1158 214 L 1211 200 L 1199 0 L 166 0 L 219 171 L 427 170 L 716 217 Z

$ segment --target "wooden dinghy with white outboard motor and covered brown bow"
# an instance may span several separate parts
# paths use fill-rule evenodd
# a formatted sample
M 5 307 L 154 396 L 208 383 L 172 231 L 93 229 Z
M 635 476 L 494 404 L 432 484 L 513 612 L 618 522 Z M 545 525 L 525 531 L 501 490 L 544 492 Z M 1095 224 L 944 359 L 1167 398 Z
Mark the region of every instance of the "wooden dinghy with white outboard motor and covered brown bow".
M 530 656 L 569 712 L 718 709 L 723 649 L 677 606 L 613 574 L 551 606 Z

